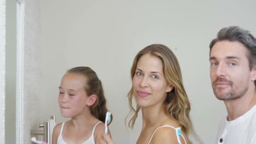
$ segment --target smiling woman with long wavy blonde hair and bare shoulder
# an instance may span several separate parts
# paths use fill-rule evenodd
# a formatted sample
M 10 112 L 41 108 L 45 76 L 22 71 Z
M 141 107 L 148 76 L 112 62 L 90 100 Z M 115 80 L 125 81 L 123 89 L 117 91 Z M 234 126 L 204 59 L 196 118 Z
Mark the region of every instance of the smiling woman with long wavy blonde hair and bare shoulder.
M 133 128 L 139 110 L 143 119 L 137 143 L 190 143 L 190 103 L 174 53 L 160 44 L 145 47 L 133 61 L 131 78 L 132 88 L 127 97 L 133 116 L 129 127 Z M 133 98 L 136 108 L 132 107 Z M 113 143 L 108 135 L 102 138 L 102 143 Z

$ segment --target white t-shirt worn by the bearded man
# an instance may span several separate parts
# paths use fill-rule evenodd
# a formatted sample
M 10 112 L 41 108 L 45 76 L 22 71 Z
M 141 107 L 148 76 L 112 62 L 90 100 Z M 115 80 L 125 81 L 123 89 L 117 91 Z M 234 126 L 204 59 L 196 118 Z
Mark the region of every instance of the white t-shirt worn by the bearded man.
M 244 115 L 220 122 L 216 143 L 218 144 L 255 144 L 256 143 L 256 105 Z

